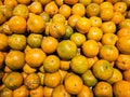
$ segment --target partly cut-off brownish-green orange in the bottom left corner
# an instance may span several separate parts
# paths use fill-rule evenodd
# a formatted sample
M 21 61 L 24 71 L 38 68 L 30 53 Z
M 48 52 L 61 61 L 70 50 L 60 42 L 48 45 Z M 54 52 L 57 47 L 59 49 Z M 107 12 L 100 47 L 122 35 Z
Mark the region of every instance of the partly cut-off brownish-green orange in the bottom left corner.
M 0 97 L 13 97 L 13 91 L 8 87 L 3 87 L 0 89 Z

